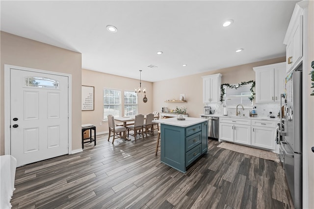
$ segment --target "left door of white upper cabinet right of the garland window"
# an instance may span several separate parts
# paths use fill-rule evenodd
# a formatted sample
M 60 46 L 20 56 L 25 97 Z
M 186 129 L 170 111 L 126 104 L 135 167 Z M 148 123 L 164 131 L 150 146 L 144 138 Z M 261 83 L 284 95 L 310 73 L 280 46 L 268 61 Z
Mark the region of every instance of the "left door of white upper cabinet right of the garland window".
M 274 102 L 274 68 L 256 71 L 256 103 Z

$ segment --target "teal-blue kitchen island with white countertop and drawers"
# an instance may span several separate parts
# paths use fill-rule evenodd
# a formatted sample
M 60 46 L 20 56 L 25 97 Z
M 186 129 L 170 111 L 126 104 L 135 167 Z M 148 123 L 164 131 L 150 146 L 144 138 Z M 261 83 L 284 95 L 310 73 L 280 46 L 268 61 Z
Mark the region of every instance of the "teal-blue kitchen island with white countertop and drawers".
M 167 118 L 160 123 L 160 161 L 185 173 L 208 150 L 208 119 Z

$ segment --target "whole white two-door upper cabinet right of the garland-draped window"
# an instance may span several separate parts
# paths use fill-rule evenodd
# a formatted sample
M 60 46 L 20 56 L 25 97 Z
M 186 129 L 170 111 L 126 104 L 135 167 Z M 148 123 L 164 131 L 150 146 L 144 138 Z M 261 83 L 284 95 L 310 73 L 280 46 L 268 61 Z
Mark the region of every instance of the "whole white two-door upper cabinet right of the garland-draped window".
M 254 67 L 256 103 L 280 102 L 284 93 L 286 62 Z

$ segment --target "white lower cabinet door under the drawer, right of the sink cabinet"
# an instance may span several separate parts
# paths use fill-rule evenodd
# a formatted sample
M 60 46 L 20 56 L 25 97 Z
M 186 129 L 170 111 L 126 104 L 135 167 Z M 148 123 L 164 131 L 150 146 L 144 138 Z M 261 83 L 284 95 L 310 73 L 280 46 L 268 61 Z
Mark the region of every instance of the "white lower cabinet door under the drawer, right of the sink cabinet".
M 252 145 L 275 150 L 275 130 L 274 128 L 252 126 Z

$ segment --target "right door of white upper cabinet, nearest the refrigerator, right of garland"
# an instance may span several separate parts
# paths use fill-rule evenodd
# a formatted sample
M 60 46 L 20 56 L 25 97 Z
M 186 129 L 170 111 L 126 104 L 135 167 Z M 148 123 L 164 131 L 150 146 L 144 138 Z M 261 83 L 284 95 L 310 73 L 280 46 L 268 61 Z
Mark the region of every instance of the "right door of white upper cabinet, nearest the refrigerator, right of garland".
M 280 94 L 285 91 L 286 65 L 279 63 L 274 69 L 274 102 L 280 102 Z

